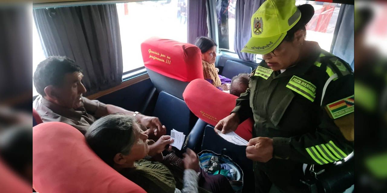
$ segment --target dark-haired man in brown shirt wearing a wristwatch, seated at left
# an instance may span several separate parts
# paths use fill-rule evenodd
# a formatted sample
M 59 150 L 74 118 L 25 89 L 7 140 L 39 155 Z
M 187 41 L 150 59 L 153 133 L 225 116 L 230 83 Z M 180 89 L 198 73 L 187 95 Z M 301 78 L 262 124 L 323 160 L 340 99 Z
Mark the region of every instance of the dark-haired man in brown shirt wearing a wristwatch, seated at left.
M 98 118 L 111 113 L 134 115 L 151 136 L 166 133 L 157 117 L 149 117 L 115 105 L 82 97 L 86 88 L 82 84 L 82 70 L 75 61 L 63 56 L 51 56 L 38 64 L 34 73 L 34 86 L 39 96 L 33 107 L 43 122 L 63 122 L 85 134 L 90 125 Z

